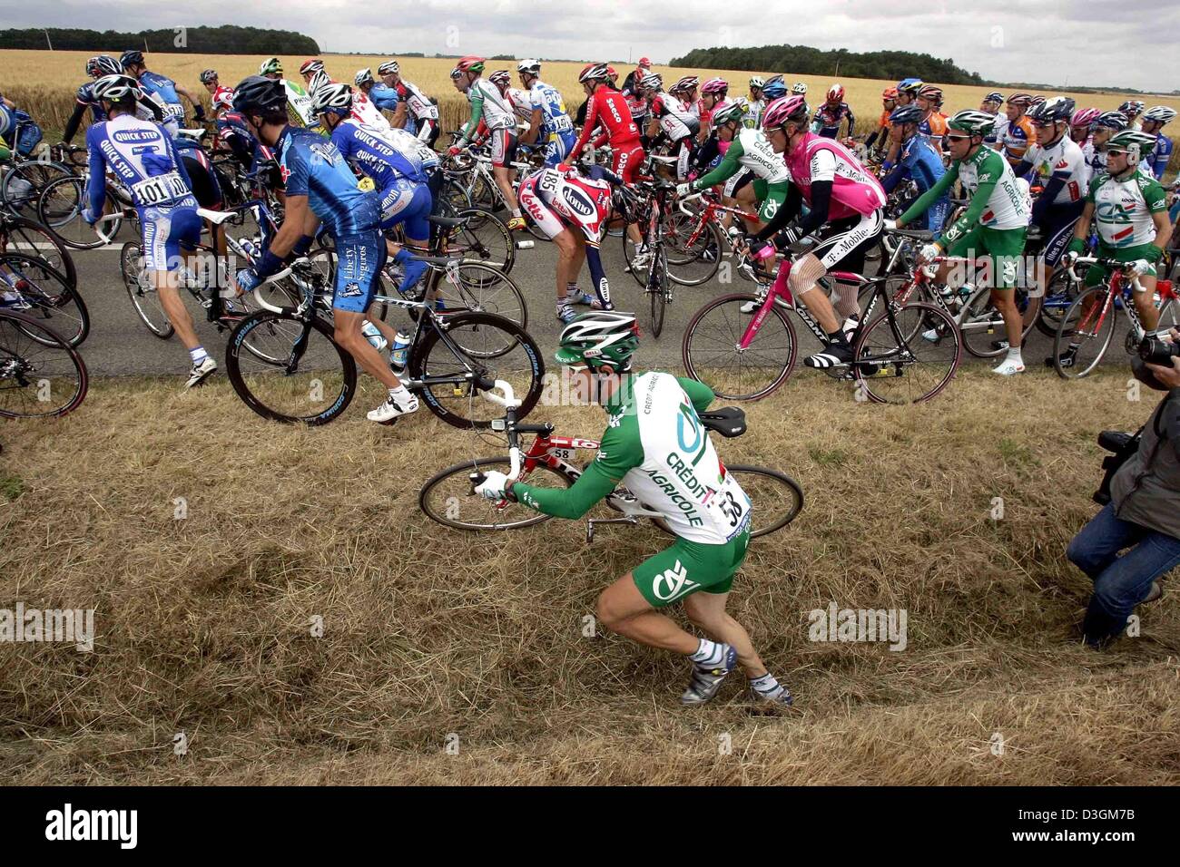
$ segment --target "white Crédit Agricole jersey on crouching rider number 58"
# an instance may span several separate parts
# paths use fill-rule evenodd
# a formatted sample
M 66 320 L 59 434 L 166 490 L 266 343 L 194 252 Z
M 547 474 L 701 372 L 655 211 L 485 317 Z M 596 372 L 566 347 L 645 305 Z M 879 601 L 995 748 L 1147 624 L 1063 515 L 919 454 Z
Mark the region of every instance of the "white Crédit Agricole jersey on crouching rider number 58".
M 660 512 L 676 536 L 721 545 L 746 528 L 750 501 L 717 458 L 686 393 L 693 387 L 701 388 L 667 373 L 625 377 L 607 405 L 610 425 L 595 466 Z

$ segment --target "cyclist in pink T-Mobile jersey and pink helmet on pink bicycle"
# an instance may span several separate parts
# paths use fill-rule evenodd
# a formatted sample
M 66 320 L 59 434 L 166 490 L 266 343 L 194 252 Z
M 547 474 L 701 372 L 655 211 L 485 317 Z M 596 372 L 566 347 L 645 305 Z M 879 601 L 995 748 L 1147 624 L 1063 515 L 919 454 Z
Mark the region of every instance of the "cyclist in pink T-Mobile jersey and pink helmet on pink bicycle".
M 856 293 L 828 300 L 814 289 L 820 277 L 838 265 L 841 271 L 864 271 L 865 254 L 877 243 L 884 224 L 885 191 L 847 147 L 811 132 L 809 121 L 807 101 L 800 96 L 780 97 L 766 106 L 762 129 L 775 152 L 785 155 L 791 190 L 749 248 L 756 257 L 769 258 L 800 238 L 817 235 L 817 245 L 792 263 L 787 285 L 828 336 L 824 350 L 804 363 L 828 368 L 852 361 L 845 331 L 856 328 L 859 307 Z M 748 307 L 753 311 L 759 306 Z M 837 310 L 845 317 L 843 326 Z

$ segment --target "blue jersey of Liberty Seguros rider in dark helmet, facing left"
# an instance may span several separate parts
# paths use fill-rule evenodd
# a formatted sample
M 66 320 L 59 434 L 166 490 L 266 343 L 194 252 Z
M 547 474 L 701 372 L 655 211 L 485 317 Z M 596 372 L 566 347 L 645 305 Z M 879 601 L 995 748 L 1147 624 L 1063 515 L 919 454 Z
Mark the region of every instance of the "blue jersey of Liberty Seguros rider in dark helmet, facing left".
M 375 231 L 380 199 L 356 185 L 345 156 L 312 130 L 287 126 L 278 136 L 278 168 L 288 196 L 307 196 L 308 205 L 339 237 Z

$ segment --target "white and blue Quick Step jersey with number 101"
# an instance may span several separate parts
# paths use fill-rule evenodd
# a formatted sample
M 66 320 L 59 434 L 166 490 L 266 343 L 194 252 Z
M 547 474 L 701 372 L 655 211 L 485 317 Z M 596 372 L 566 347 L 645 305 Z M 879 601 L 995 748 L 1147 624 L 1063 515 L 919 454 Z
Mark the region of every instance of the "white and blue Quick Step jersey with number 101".
M 106 201 L 106 166 L 131 191 L 140 216 L 146 208 L 196 208 L 184 164 L 172 138 L 150 120 L 119 114 L 86 130 L 90 151 L 91 210 L 99 214 Z

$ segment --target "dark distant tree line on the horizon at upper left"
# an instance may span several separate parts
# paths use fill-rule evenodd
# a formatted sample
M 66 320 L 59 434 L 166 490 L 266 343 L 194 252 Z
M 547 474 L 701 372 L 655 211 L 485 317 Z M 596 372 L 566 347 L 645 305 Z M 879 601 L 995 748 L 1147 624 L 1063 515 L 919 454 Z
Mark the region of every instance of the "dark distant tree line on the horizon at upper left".
M 48 38 L 46 38 L 48 37 Z M 258 27 L 181 27 L 138 33 L 50 27 L 0 31 L 0 48 L 48 48 L 96 51 L 118 54 L 126 48 L 162 53 L 201 54 L 319 54 L 310 37 L 291 31 Z

